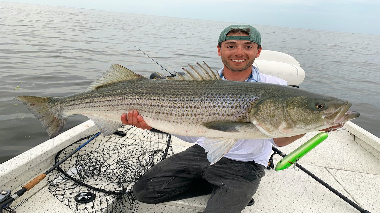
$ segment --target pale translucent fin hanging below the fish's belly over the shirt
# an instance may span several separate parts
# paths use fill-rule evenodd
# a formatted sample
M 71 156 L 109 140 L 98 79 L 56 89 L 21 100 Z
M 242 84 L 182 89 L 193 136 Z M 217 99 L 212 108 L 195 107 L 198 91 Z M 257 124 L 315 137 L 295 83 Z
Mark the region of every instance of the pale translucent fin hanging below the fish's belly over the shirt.
M 205 138 L 203 148 L 207 153 L 207 160 L 210 165 L 216 163 L 223 157 L 236 143 L 236 139 L 232 138 Z

